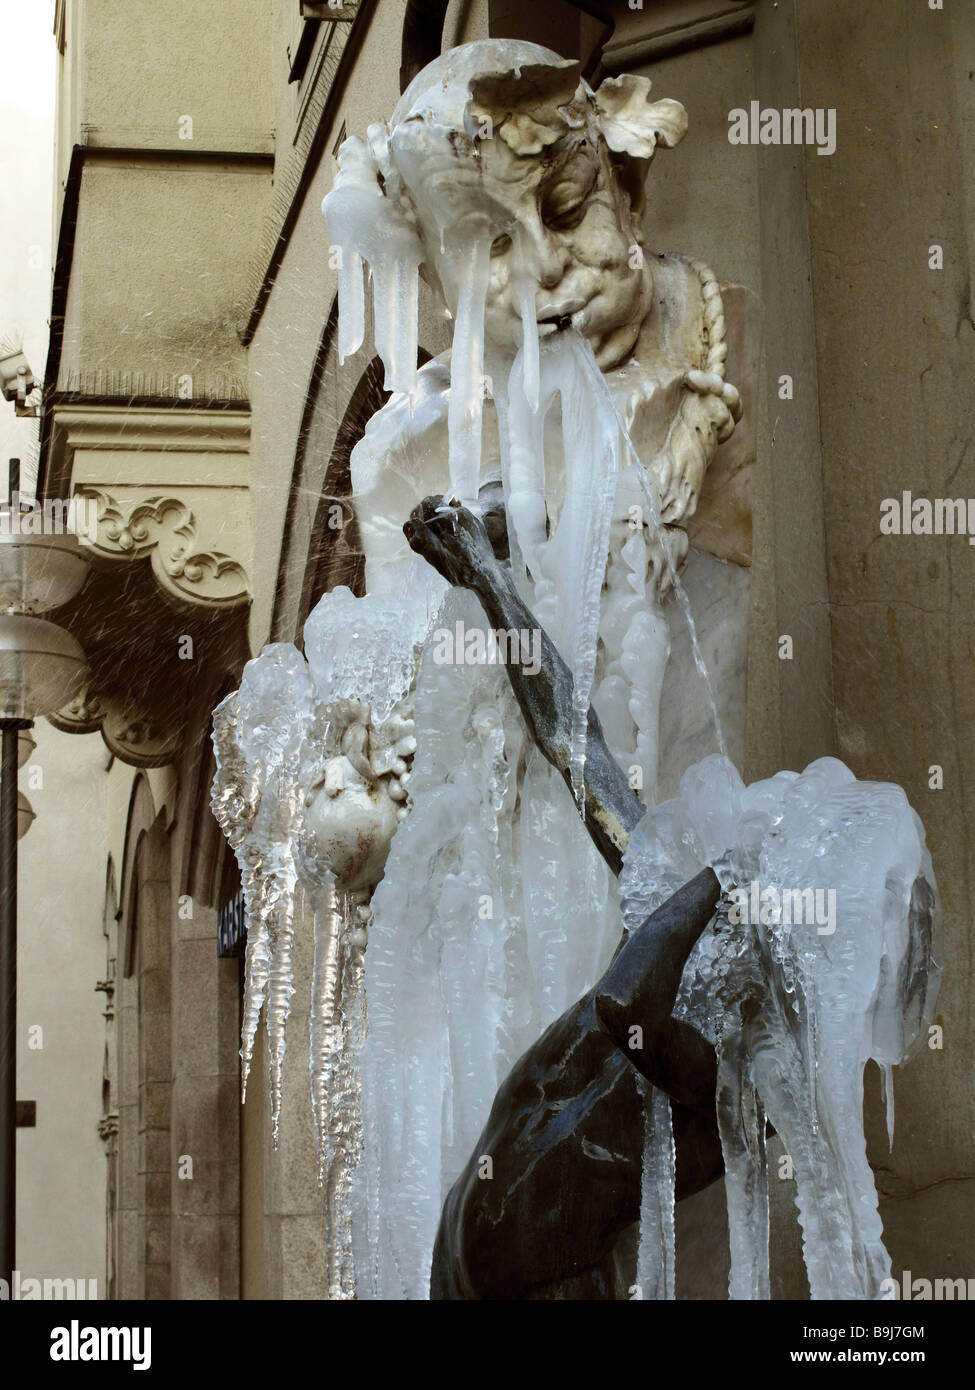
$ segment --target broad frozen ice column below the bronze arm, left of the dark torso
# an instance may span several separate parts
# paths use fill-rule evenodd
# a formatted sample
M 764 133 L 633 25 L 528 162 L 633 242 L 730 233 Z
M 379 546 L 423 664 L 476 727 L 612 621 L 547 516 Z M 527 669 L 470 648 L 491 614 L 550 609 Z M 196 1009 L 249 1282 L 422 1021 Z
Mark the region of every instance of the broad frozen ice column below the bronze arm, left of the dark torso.
M 444 619 L 476 620 L 473 598 L 452 594 Z M 430 652 L 421 663 L 413 805 L 366 952 L 359 1297 L 427 1297 L 444 1195 L 523 1041 L 509 1006 L 522 973 L 506 915 L 515 860 L 499 821 L 513 792 L 510 699 L 497 664 L 438 666 Z

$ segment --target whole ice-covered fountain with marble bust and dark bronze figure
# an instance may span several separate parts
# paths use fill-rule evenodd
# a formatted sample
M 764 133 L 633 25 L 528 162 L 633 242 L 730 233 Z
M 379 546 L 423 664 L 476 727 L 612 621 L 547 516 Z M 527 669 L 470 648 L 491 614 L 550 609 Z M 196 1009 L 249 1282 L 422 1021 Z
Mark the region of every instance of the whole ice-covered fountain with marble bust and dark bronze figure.
M 593 93 L 533 44 L 467 44 L 346 140 L 325 199 L 339 350 L 366 335 L 367 265 L 392 392 L 352 457 L 367 594 L 323 595 L 303 655 L 278 644 L 248 664 L 214 713 L 213 806 L 248 910 L 243 1079 L 263 1009 L 274 1133 L 299 881 L 313 908 L 328 1297 L 426 1298 L 431 1262 L 445 1297 L 609 1268 L 622 1227 L 561 1232 L 542 1270 L 522 1237 L 501 1240 L 487 1194 L 517 1188 L 542 1233 L 562 1198 L 598 1213 L 615 1163 L 615 1207 L 641 1227 L 623 1287 L 673 1297 L 682 1144 L 697 1140 L 599 1001 L 647 919 L 676 922 L 668 902 L 688 880 L 700 922 L 661 1029 L 690 1044 L 688 1074 L 716 1056 L 698 1186 L 725 1169 L 732 1297 L 768 1297 L 766 1120 L 796 1162 L 814 1297 L 869 1297 L 889 1272 L 862 1069 L 899 1062 L 932 1008 L 933 878 L 899 788 L 832 759 L 746 788 L 727 756 L 682 570 L 740 402 L 715 275 L 644 253 L 643 232 L 648 165 L 686 125 L 644 78 Z M 453 346 L 417 370 L 420 274 Z M 495 609 L 506 620 L 485 623 Z M 716 752 L 658 802 L 670 610 L 690 637 L 682 691 L 704 692 Z M 501 660 L 492 632 L 512 631 Z M 556 713 L 554 756 L 542 726 Z M 758 897 L 758 920 L 739 891 Z M 776 906 L 816 892 L 833 894 L 829 934 Z M 559 1038 L 574 1040 L 565 1068 Z M 551 1120 L 519 1099 L 542 1062 L 567 1087 L 558 1113 L 579 1123 L 535 1173 L 513 1129 Z M 594 1273 L 588 1295 L 611 1283 Z

